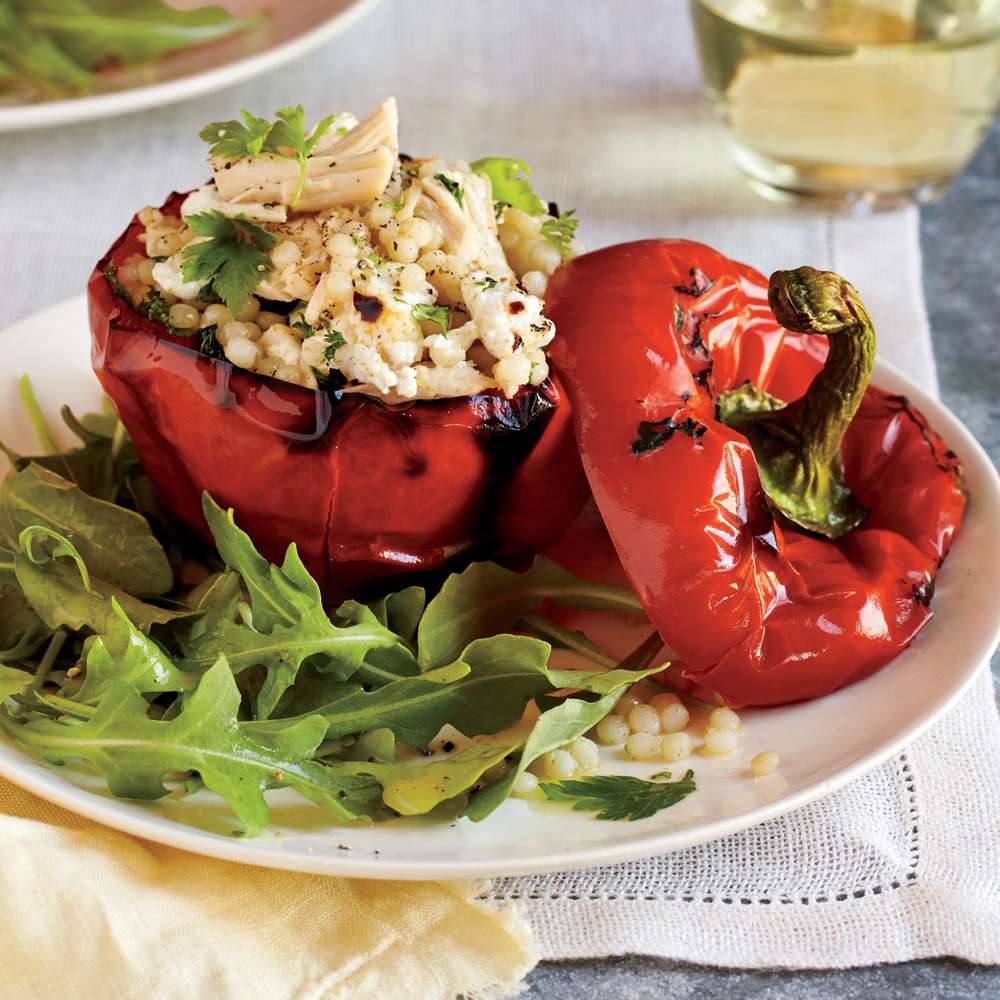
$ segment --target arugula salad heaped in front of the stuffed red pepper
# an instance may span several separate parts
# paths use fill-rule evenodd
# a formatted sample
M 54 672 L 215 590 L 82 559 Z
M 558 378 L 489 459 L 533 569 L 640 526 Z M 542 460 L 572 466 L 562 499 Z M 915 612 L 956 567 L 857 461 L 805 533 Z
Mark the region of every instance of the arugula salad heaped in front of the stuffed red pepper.
M 594 774 L 583 745 L 624 725 L 623 704 L 654 710 L 629 688 L 664 668 L 662 644 L 651 632 L 615 663 L 544 612 L 635 615 L 630 592 L 539 558 L 329 609 L 295 544 L 268 563 L 208 494 L 213 544 L 168 515 L 110 412 L 64 408 L 79 444 L 60 450 L 26 380 L 22 396 L 41 448 L 5 449 L 0 727 L 29 753 L 86 762 L 118 796 L 205 786 L 246 835 L 274 788 L 349 824 L 479 821 L 511 794 L 634 820 L 695 790 L 690 771 Z M 554 666 L 553 647 L 590 668 Z

